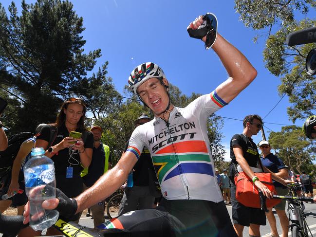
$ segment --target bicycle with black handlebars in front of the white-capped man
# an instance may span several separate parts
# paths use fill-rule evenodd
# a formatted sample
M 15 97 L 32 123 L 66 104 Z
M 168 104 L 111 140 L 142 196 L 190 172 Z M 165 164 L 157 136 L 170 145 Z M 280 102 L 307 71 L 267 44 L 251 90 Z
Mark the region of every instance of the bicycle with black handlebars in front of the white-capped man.
M 291 221 L 289 228 L 291 228 L 292 237 L 313 237 L 313 234 L 305 220 L 306 215 L 304 214 L 304 210 L 302 208 L 302 201 L 313 202 L 313 198 L 298 197 L 296 194 L 297 186 L 300 186 L 300 185 L 297 183 L 289 184 L 288 185 L 289 195 L 287 196 L 273 195 L 273 198 L 288 201 L 287 210 L 288 210 L 289 220 Z M 260 196 L 261 210 L 264 210 L 265 212 L 269 212 L 265 205 L 266 197 L 263 195 L 261 191 L 259 192 L 259 196 Z

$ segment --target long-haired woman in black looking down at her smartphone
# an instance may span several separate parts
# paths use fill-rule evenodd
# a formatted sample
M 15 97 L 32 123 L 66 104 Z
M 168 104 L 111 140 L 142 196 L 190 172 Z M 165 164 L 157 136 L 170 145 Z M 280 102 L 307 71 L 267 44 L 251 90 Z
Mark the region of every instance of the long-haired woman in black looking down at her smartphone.
M 84 126 L 85 113 L 86 104 L 83 100 L 66 100 L 54 124 L 57 133 L 52 145 L 49 146 L 51 129 L 48 125 L 41 130 L 35 145 L 43 147 L 45 155 L 54 161 L 56 187 L 69 198 L 83 191 L 80 172 L 83 167 L 90 165 L 92 159 L 93 134 Z

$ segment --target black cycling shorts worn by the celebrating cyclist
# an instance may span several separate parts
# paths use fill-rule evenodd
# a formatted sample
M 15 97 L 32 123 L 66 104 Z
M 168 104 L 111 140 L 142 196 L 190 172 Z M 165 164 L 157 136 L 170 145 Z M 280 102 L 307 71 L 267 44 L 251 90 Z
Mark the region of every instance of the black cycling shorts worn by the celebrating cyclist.
M 237 237 L 223 201 L 163 198 L 156 209 L 131 211 L 98 228 L 125 229 L 137 237 Z

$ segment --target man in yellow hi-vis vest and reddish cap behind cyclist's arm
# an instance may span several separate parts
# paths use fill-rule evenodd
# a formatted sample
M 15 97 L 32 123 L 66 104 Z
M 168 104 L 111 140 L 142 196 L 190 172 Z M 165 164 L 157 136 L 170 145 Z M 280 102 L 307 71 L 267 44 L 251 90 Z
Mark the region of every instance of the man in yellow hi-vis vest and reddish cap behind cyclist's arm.
M 81 172 L 85 189 L 91 187 L 104 173 L 111 169 L 112 154 L 110 147 L 101 142 L 102 129 L 94 126 L 90 129 L 93 133 L 93 153 L 89 168 Z M 93 215 L 94 228 L 104 223 L 105 201 L 100 201 L 90 207 Z

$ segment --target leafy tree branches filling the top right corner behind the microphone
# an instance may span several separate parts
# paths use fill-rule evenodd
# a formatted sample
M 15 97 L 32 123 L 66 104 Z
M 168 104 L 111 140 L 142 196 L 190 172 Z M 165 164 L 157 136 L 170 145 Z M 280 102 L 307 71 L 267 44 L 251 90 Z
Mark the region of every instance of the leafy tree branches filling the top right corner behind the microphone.
M 254 30 L 268 29 L 263 51 L 265 67 L 280 77 L 279 93 L 287 94 L 292 104 L 287 112 L 293 122 L 315 112 L 315 77 L 305 72 L 305 60 L 316 44 L 289 47 L 286 36 L 297 30 L 313 27 L 316 20 L 305 18 L 297 22 L 295 17 L 305 16 L 310 7 L 316 8 L 315 0 L 235 0 L 235 9 L 247 27 Z M 273 34 L 273 32 L 275 32 Z M 256 41 L 258 36 L 254 38 Z

